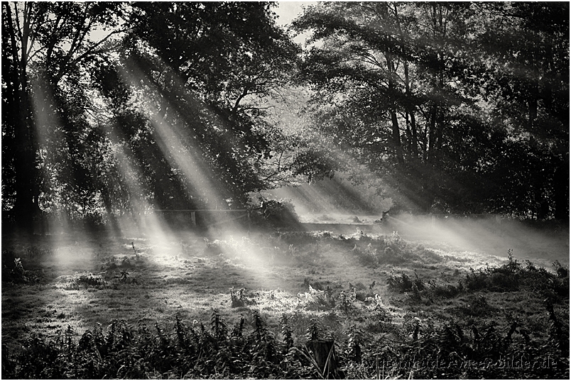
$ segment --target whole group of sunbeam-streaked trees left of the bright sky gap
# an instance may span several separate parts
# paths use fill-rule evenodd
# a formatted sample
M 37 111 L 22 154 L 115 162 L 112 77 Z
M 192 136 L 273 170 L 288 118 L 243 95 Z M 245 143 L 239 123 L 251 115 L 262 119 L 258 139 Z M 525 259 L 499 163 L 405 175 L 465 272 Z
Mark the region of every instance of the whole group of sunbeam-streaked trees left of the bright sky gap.
M 224 209 L 275 186 L 284 139 L 264 99 L 299 48 L 272 6 L 4 3 L 3 211 L 28 228 L 41 212 Z

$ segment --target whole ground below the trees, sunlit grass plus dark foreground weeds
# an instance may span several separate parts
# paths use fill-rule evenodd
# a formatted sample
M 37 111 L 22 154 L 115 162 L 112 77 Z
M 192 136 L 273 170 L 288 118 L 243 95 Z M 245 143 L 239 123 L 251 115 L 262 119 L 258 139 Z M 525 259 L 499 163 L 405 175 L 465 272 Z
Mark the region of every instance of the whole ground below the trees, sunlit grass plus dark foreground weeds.
M 3 237 L 2 377 L 569 377 L 567 263 L 219 233 Z

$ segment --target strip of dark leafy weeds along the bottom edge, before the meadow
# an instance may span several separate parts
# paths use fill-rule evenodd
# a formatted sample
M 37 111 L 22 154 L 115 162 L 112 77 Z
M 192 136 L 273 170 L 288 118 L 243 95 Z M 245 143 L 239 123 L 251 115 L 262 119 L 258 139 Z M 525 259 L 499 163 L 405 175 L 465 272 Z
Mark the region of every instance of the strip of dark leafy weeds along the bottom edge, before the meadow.
M 2 377 L 317 378 L 327 374 L 311 348 L 335 341 L 331 377 L 519 378 L 525 370 L 526 377 L 567 379 L 568 329 L 553 306 L 545 308 L 543 339 L 531 338 L 518 321 L 436 325 L 413 314 L 405 316 L 398 341 L 355 324 L 345 328 L 343 340 L 335 340 L 317 318 L 308 321 L 305 337 L 294 341 L 292 316 L 282 316 L 274 332 L 258 311 L 247 319 L 241 314 L 234 326 L 217 311 L 208 327 L 197 321 L 189 326 L 178 317 L 170 326 L 152 327 L 114 320 L 107 327 L 97 324 L 78 341 L 68 326 L 49 340 L 33 334 L 18 352 L 3 346 Z

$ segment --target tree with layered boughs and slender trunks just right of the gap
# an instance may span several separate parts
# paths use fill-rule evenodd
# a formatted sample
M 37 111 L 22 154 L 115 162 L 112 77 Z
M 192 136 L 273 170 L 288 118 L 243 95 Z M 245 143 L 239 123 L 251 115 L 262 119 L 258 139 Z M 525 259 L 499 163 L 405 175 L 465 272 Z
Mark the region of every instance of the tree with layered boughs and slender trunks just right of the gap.
M 470 63 L 460 43 L 469 15 L 465 4 L 350 2 L 312 6 L 294 22 L 321 43 L 303 64 L 317 126 L 352 148 L 409 207 L 462 207 L 444 183 L 457 183 L 462 165 L 446 156 L 456 143 L 450 138 L 466 137 L 445 131 L 474 125 L 465 115 L 473 100 L 462 83 Z

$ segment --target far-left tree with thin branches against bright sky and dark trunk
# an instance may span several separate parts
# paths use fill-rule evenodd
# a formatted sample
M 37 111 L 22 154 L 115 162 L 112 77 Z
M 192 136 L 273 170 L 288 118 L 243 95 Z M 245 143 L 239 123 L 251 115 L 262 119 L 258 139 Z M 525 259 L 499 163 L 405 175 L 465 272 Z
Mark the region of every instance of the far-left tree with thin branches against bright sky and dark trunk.
M 43 153 L 50 148 L 39 131 L 60 128 L 42 123 L 55 123 L 58 118 L 53 115 L 65 114 L 64 103 L 70 100 L 65 93 L 76 89 L 82 65 L 107 53 L 105 43 L 121 32 L 108 30 L 117 26 L 120 10 L 117 3 L 2 3 L 2 133 L 6 139 L 2 155 L 3 175 L 8 176 L 2 189 L 3 212 L 11 206 L 21 228 L 29 230 L 31 219 L 40 213 L 40 167 Z M 90 33 L 106 29 L 104 38 L 92 40 Z M 53 98 L 48 99 L 48 94 Z M 42 109 L 34 99 L 43 101 Z M 45 120 L 40 120 L 39 113 Z M 13 145 L 6 147 L 7 142 Z

